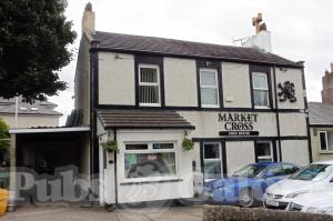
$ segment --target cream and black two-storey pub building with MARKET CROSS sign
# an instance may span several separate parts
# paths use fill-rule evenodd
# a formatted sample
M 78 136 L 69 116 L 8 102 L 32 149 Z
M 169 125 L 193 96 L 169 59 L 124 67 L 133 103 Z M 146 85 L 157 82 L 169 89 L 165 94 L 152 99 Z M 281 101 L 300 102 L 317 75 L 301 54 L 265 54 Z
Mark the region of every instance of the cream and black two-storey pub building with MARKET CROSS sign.
M 75 108 L 91 128 L 101 204 L 192 198 L 248 163 L 311 162 L 302 62 L 95 31 L 90 3 L 82 26 Z

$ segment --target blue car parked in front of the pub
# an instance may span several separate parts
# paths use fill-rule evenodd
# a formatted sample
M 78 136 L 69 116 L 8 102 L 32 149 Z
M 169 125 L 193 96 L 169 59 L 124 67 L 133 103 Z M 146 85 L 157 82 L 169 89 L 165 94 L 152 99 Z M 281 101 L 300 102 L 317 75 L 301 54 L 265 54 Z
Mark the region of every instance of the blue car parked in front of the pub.
M 231 178 L 213 180 L 204 184 L 204 195 L 213 203 L 253 207 L 263 201 L 266 188 L 287 178 L 300 169 L 285 162 L 259 162 L 243 167 Z

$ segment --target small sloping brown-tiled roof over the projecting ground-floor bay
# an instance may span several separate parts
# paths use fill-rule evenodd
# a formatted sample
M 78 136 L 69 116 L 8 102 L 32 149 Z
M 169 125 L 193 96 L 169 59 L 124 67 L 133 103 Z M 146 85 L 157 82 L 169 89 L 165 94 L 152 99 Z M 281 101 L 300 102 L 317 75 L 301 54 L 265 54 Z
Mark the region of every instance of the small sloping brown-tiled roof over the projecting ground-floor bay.
M 175 111 L 103 110 L 98 117 L 104 129 L 194 129 Z

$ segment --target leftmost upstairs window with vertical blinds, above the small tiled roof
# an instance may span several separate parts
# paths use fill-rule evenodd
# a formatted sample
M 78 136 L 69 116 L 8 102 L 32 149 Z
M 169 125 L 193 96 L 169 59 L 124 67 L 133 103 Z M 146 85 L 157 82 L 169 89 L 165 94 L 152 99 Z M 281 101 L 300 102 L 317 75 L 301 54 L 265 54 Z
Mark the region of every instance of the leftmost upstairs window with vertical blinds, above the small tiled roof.
M 140 106 L 161 106 L 158 66 L 139 64 L 139 102 Z

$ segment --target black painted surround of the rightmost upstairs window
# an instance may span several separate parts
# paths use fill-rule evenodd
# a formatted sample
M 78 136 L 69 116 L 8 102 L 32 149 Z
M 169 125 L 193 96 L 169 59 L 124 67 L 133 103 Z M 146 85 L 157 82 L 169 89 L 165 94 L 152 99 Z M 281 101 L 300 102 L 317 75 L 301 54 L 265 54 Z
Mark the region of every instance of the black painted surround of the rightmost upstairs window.
M 270 107 L 269 109 L 273 109 L 273 97 L 272 97 L 272 78 L 271 78 L 271 67 L 268 66 L 249 66 L 249 74 L 250 74 L 250 90 L 251 90 L 251 104 L 252 108 L 255 109 L 254 107 L 254 96 L 253 96 L 253 82 L 252 82 L 252 74 L 253 72 L 261 72 L 266 74 L 268 79 L 268 86 L 269 86 L 269 99 L 270 99 Z

